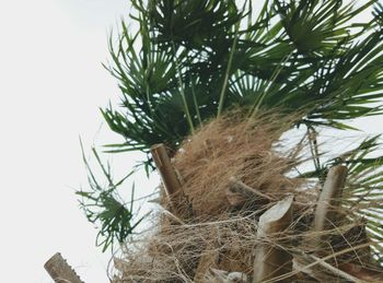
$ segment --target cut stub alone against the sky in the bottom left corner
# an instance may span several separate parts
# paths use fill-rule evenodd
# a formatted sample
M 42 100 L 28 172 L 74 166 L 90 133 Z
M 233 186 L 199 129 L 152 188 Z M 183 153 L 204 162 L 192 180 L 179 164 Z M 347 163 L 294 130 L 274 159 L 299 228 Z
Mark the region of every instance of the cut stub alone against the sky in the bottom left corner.
M 68 264 L 60 252 L 55 253 L 45 264 L 45 270 L 49 273 L 55 283 L 84 283 L 76 271 Z

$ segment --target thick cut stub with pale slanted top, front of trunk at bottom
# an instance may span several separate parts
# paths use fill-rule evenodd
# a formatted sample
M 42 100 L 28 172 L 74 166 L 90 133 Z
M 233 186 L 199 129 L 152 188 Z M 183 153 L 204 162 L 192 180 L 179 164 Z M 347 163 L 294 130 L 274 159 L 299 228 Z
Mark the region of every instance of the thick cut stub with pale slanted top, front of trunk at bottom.
M 275 236 L 272 234 L 282 233 L 289 227 L 292 222 L 292 204 L 293 196 L 289 196 L 260 215 L 257 229 L 259 244 L 255 250 L 253 283 L 271 280 L 292 271 L 291 255 L 267 240 Z

